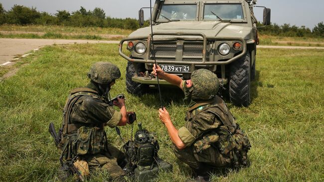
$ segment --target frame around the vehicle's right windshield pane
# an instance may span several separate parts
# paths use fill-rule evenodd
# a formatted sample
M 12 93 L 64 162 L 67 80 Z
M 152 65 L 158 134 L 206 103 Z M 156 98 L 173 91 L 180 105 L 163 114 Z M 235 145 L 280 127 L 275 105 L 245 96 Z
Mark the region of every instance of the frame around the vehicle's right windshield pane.
M 241 4 L 244 17 L 243 17 L 243 19 L 224 19 L 224 20 L 220 20 L 220 19 L 217 19 L 217 20 L 216 19 L 204 19 L 205 4 Z M 238 22 L 238 23 L 248 22 L 246 12 L 245 12 L 244 1 L 242 1 L 242 0 L 238 0 L 238 1 L 203 1 L 203 2 L 201 2 L 199 21 L 230 21 L 230 22 Z

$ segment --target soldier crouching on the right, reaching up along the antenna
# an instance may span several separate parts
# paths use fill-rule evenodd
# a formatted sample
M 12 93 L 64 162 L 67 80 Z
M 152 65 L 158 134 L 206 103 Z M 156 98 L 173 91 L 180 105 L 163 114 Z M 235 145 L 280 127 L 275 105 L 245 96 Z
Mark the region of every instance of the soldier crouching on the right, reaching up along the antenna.
M 194 70 L 191 79 L 183 81 L 174 74 L 163 72 L 154 65 L 153 73 L 178 86 L 190 101 L 185 125 L 177 130 L 165 108 L 159 110 L 160 120 L 172 140 L 175 156 L 189 165 L 194 180 L 208 182 L 216 168 L 247 166 L 247 152 L 251 145 L 247 136 L 235 123 L 224 101 L 218 97 L 219 81 L 207 69 Z

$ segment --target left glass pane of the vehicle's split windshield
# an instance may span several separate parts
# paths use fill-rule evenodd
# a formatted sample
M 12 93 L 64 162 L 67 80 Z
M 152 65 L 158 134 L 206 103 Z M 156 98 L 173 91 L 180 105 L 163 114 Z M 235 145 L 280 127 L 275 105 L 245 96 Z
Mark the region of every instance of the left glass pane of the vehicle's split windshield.
M 159 20 L 194 20 L 197 4 L 163 4 Z

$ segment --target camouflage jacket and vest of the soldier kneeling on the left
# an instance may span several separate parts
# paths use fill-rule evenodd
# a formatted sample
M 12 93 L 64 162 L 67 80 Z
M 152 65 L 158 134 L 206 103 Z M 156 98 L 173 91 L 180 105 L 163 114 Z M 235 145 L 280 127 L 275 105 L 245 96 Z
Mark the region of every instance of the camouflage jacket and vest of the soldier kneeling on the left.
M 74 89 L 66 100 L 59 145 L 63 160 L 107 151 L 104 125 L 113 128 L 122 117 L 94 88 Z

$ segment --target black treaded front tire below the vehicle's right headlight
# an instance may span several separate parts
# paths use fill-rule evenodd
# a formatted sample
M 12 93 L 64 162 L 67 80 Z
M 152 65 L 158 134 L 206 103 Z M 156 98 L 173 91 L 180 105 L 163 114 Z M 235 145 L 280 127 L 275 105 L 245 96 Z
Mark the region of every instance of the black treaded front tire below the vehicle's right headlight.
M 230 65 L 229 98 L 236 106 L 250 105 L 250 61 L 251 56 L 247 52 L 245 56 Z

